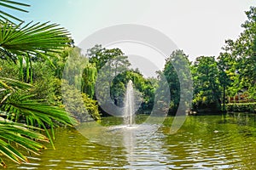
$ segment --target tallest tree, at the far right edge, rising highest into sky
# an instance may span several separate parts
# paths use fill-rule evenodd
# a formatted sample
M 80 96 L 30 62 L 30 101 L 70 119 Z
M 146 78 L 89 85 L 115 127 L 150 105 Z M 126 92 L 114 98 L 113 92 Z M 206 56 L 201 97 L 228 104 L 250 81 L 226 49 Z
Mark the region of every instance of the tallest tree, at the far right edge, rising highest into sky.
M 247 21 L 241 25 L 244 31 L 241 32 L 236 41 L 226 40 L 223 49 L 237 62 L 236 72 L 239 81 L 236 81 L 234 86 L 238 90 L 245 91 L 249 98 L 256 99 L 256 8 L 251 7 L 246 14 Z

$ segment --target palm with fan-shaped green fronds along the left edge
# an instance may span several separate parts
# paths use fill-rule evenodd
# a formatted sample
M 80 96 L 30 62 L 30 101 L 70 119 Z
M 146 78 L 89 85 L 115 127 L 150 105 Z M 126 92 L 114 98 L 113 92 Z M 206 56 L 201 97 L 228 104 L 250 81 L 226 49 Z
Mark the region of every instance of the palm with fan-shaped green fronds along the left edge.
M 1 8 L 27 12 L 24 7 L 28 6 L 25 3 L 0 0 Z M 18 24 L 11 20 L 18 21 Z M 20 61 L 20 73 L 25 61 L 26 78 L 30 77 L 30 82 L 32 69 L 28 67 L 32 67 L 33 58 L 51 62 L 52 54 L 60 52 L 70 43 L 67 30 L 56 24 L 25 24 L 14 15 L 2 9 L 0 11 L 0 59 Z M 32 83 L 0 77 L 0 154 L 17 163 L 27 159 L 15 148 L 15 144 L 38 153 L 44 148 L 39 141 L 49 141 L 54 147 L 54 127 L 72 126 L 75 123 L 66 111 L 32 99 L 31 88 Z M 49 134 L 48 128 L 51 129 L 52 135 Z M 6 167 L 1 157 L 0 165 Z

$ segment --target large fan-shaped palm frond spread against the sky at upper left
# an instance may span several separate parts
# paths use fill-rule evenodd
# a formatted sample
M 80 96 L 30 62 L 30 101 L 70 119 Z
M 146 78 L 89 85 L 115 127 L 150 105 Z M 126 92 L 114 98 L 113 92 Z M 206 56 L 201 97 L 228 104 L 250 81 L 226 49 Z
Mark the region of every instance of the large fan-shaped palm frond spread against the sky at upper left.
M 0 51 L 2 54 L 29 55 L 49 60 L 51 53 L 58 53 L 68 46 L 69 32 L 57 24 L 32 22 L 17 26 L 9 22 L 0 27 Z

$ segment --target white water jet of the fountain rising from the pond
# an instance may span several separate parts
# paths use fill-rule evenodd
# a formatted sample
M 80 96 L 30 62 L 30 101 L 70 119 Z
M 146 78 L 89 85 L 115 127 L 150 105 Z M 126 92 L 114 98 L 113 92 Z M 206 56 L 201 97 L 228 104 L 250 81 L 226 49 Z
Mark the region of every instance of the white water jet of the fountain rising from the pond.
M 125 111 L 124 123 L 125 125 L 132 126 L 135 122 L 135 98 L 132 81 L 130 80 L 126 87 L 125 93 Z

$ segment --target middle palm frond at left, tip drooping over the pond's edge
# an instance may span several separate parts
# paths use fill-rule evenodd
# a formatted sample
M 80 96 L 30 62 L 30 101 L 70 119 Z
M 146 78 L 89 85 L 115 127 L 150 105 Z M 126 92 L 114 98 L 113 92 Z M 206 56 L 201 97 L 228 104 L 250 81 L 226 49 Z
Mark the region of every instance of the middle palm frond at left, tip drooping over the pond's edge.
M 48 132 L 48 127 L 59 127 L 60 125 L 73 126 L 77 122 L 66 111 L 59 107 L 40 103 L 37 100 L 30 99 L 30 94 L 25 94 L 24 91 L 15 91 L 8 96 L 0 106 L 0 110 L 7 113 L 7 118 L 12 121 L 23 120 L 27 125 L 42 127 L 45 130 L 49 142 L 55 149 L 53 139 L 54 133 L 51 135 Z M 53 131 L 52 131 L 53 132 Z

